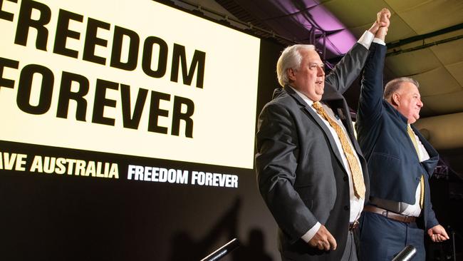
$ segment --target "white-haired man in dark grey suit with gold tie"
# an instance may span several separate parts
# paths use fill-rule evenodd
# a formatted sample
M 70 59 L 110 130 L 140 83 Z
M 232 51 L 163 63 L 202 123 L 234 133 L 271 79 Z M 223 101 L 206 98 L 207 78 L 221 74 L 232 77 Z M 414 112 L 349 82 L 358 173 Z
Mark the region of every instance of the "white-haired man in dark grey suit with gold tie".
M 368 198 L 368 175 L 342 93 L 384 25 L 375 22 L 326 77 L 313 46 L 281 53 L 283 88 L 259 115 L 256 174 L 279 225 L 283 260 L 357 260 L 353 230 Z

